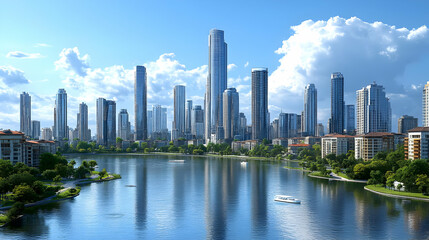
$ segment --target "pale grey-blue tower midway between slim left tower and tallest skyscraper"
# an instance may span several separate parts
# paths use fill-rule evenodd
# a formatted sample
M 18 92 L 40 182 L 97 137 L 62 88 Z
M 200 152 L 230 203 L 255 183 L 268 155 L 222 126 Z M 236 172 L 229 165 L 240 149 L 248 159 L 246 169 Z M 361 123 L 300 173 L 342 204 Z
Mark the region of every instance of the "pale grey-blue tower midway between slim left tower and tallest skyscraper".
M 185 132 L 185 86 L 174 87 L 174 119 L 171 130 L 171 139 L 183 137 Z

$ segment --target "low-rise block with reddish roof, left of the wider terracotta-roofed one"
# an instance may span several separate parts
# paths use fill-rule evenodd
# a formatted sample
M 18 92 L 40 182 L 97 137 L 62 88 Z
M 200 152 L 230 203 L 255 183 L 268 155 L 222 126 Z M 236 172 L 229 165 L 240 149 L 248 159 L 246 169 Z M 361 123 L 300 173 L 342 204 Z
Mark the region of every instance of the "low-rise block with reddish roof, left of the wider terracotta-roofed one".
M 347 154 L 349 150 L 355 149 L 355 139 L 353 136 L 341 134 L 328 134 L 322 137 L 322 158 L 328 154 Z

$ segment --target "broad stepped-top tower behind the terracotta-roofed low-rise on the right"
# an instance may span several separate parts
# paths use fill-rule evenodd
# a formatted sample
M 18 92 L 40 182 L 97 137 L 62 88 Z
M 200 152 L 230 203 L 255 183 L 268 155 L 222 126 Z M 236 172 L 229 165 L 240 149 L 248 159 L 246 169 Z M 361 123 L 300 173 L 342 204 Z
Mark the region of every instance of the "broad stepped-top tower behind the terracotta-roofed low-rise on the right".
M 357 134 L 390 132 L 392 113 L 384 87 L 376 83 L 356 91 Z

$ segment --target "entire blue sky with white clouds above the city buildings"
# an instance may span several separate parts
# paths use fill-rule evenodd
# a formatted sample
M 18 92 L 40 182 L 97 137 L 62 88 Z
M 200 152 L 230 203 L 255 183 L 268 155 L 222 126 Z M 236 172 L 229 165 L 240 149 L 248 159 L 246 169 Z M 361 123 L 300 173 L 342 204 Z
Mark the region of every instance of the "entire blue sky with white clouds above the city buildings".
M 148 73 L 148 109 L 168 108 L 173 87 L 203 105 L 210 29 L 225 31 L 228 87 L 240 93 L 250 123 L 252 67 L 269 71 L 271 120 L 300 113 L 306 84 L 318 90 L 318 122 L 330 115 L 330 74 L 345 78 L 346 104 L 356 90 L 385 87 L 392 131 L 402 115 L 422 119 L 429 81 L 429 2 L 410 1 L 3 1 L 0 0 L 0 128 L 19 130 L 19 94 L 32 97 L 32 120 L 53 125 L 55 94 L 68 94 L 68 125 L 79 103 L 116 100 L 134 123 L 136 65 Z

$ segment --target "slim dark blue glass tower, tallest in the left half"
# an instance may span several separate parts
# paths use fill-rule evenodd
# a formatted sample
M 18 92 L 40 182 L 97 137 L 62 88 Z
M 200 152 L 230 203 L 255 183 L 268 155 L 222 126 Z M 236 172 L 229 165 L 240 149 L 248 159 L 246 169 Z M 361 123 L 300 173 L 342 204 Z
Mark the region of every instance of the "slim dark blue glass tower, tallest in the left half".
M 147 139 L 147 74 L 144 66 L 136 66 L 134 81 L 134 117 L 136 140 Z

